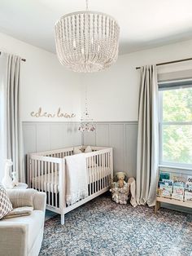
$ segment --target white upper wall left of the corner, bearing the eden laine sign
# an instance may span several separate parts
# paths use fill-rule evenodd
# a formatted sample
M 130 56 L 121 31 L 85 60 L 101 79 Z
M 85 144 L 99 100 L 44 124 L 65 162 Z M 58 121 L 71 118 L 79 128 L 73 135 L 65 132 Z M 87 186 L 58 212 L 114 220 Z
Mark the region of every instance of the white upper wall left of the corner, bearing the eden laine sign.
M 0 33 L 0 51 L 6 51 L 26 59 L 21 62 L 20 107 L 22 121 L 79 121 L 81 115 L 81 87 L 78 74 L 68 71 L 56 55 Z M 55 113 L 75 113 L 76 117 L 31 117 L 32 111 L 41 107 Z

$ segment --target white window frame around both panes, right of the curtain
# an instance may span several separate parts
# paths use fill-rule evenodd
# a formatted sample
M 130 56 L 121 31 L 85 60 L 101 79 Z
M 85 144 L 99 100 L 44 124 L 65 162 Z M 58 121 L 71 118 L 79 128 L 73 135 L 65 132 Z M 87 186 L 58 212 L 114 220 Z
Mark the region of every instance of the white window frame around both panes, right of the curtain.
M 187 86 L 192 88 L 192 83 L 190 86 Z M 184 89 L 185 86 L 172 86 L 172 88 L 167 88 L 164 90 L 177 90 L 177 89 Z M 192 164 L 185 164 L 185 163 L 177 163 L 177 162 L 171 162 L 171 161 L 164 161 L 163 160 L 163 126 L 164 125 L 191 125 L 192 121 L 163 121 L 163 93 L 164 90 L 158 91 L 159 94 L 159 166 L 168 166 L 168 167 L 174 167 L 174 168 L 181 168 L 185 170 L 192 170 Z

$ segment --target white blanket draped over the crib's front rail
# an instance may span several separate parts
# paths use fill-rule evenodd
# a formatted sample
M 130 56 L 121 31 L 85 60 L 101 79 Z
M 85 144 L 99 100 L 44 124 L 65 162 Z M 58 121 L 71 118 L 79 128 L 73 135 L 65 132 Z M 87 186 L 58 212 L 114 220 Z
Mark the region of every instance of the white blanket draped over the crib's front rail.
M 66 159 L 66 203 L 75 204 L 88 196 L 85 154 L 65 157 Z

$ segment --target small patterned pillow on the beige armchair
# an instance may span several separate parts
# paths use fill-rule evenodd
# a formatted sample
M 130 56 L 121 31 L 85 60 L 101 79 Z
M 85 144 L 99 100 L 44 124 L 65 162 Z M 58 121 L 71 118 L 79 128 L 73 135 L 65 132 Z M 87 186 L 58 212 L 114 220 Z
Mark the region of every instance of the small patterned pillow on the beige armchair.
M 0 219 L 13 209 L 5 188 L 0 184 Z

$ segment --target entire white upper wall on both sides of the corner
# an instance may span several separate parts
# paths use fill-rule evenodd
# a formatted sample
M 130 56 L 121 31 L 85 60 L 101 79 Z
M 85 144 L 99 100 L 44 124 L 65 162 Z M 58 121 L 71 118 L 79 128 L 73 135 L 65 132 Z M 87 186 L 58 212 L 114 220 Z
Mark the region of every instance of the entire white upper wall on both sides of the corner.
M 94 121 L 137 121 L 140 71 L 137 66 L 189 58 L 192 40 L 146 51 L 120 55 L 116 64 L 100 73 L 78 74 L 59 64 L 56 55 L 0 33 L 0 51 L 20 55 L 21 118 L 23 121 L 69 121 L 65 118 L 31 117 L 39 107 L 49 113 L 61 107 L 76 113 L 70 121 L 79 121 L 88 90 L 89 113 Z M 169 64 L 159 73 L 192 68 L 192 62 Z

